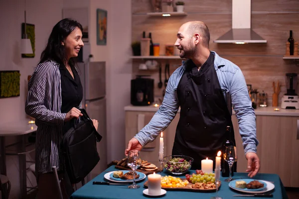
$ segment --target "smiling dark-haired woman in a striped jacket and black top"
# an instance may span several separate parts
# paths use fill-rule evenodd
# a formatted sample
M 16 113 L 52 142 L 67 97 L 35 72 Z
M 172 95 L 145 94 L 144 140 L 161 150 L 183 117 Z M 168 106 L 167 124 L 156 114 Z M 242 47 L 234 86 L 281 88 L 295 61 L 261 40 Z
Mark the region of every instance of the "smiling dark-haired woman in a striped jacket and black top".
M 75 57 L 84 45 L 82 25 L 68 18 L 52 29 L 40 62 L 28 83 L 25 111 L 36 120 L 36 157 L 38 199 L 59 198 L 52 167 L 56 166 L 64 198 L 73 188 L 64 168 L 61 141 L 71 120 L 82 116 L 83 88 L 75 67 Z M 98 121 L 93 119 L 98 128 Z

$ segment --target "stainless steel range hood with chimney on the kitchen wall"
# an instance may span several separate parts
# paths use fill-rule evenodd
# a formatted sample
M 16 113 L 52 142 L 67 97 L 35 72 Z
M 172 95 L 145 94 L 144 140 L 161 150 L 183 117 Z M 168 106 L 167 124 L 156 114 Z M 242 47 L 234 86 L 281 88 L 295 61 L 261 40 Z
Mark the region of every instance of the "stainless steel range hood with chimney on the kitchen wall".
M 232 0 L 232 29 L 214 43 L 267 43 L 251 29 L 251 0 Z

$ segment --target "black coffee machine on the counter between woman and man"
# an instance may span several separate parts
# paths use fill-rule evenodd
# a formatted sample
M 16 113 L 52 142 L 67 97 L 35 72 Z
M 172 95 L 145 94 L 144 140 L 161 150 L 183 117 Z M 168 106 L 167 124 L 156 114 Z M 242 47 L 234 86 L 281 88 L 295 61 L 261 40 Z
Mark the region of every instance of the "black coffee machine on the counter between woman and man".
M 131 80 L 131 104 L 146 106 L 153 102 L 153 79 L 137 76 Z

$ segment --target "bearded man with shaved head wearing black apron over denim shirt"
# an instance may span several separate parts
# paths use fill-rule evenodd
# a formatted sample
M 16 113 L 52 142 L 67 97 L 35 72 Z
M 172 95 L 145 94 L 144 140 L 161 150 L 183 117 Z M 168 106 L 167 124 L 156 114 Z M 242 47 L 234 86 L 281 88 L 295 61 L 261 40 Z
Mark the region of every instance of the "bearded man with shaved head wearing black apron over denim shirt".
M 248 161 L 246 171 L 252 178 L 260 169 L 260 160 L 256 116 L 246 82 L 238 66 L 209 50 L 209 41 L 208 27 L 201 21 L 189 21 L 179 28 L 174 45 L 187 60 L 169 78 L 163 103 L 149 124 L 129 141 L 125 154 L 152 142 L 180 106 L 172 155 L 190 156 L 195 168 L 200 168 L 200 161 L 215 157 L 223 145 L 226 126 L 232 126 L 233 107 Z

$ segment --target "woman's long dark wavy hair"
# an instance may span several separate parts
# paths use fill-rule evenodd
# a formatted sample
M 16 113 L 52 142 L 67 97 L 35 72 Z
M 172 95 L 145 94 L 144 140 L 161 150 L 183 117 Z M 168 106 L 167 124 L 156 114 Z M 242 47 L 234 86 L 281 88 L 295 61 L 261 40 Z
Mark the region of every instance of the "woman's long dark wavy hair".
M 56 23 L 49 36 L 47 46 L 40 55 L 39 63 L 52 59 L 60 64 L 60 66 L 64 66 L 67 61 L 67 57 L 65 47 L 62 45 L 62 42 L 65 41 L 66 37 L 76 27 L 83 31 L 82 25 L 70 18 L 64 18 Z M 75 57 L 70 58 L 68 63 L 70 66 L 74 66 L 76 63 Z

